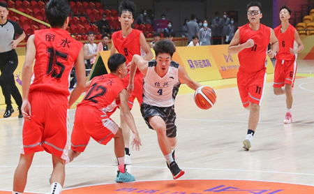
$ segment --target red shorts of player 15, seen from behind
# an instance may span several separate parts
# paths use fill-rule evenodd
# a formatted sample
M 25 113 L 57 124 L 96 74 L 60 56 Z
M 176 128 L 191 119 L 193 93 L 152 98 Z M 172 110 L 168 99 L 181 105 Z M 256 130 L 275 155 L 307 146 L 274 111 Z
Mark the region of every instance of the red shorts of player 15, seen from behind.
M 31 91 L 31 121 L 24 121 L 21 154 L 47 151 L 63 160 L 68 156 L 68 98 Z

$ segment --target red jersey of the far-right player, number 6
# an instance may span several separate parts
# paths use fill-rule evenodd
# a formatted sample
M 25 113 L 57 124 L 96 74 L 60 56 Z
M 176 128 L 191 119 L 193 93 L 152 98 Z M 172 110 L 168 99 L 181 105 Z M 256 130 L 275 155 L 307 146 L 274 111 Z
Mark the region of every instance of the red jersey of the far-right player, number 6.
M 296 56 L 290 53 L 290 48 L 294 48 L 294 33 L 296 29 L 289 24 L 289 27 L 284 33 L 281 33 L 281 25 L 276 27 L 274 31 L 279 43 L 279 51 L 276 54 L 276 59 L 295 61 Z

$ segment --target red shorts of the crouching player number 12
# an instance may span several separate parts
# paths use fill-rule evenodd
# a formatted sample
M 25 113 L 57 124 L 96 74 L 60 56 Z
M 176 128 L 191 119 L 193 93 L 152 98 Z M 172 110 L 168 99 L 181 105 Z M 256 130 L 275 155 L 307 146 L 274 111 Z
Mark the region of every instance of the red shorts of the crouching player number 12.
M 94 107 L 77 107 L 71 135 L 71 149 L 83 152 L 90 137 L 100 144 L 107 144 L 119 130 L 105 113 Z

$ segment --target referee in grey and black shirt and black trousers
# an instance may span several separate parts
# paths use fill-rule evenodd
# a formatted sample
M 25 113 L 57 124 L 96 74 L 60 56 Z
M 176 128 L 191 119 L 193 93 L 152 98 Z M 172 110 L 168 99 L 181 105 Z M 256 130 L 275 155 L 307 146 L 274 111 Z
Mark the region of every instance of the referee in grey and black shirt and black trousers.
M 16 40 L 15 34 L 20 35 Z M 19 118 L 23 117 L 21 112 L 22 96 L 15 85 L 13 72 L 18 64 L 15 48 L 24 38 L 25 33 L 19 24 L 8 20 L 8 4 L 0 2 L 0 85 L 6 100 L 6 112 L 3 114 L 4 118 L 10 117 L 14 112 L 11 103 L 11 95 L 19 107 Z

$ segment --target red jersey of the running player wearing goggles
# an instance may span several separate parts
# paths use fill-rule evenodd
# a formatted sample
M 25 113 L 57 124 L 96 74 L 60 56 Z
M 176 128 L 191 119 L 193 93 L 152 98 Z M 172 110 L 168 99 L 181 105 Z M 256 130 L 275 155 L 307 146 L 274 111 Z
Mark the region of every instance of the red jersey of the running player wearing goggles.
M 249 24 L 239 27 L 240 44 L 246 43 L 248 39 L 254 40 L 254 46 L 246 48 L 239 52 L 239 62 L 241 70 L 248 73 L 257 72 L 265 68 L 265 61 L 267 60 L 267 46 L 270 42 L 270 28 L 260 24 L 257 31 L 253 31 Z

